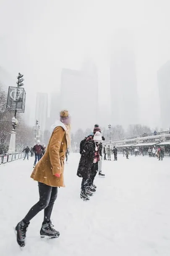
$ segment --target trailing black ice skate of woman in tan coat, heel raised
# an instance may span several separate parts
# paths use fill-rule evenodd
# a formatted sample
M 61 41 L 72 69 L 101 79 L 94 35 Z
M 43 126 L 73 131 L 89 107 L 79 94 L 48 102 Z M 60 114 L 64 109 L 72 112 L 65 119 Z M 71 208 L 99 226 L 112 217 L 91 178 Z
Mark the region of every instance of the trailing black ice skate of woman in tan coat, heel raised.
M 16 225 L 16 233 L 17 233 L 17 243 L 19 246 L 25 246 L 25 238 L 26 238 L 26 230 L 29 223 L 25 223 L 24 221 L 20 221 Z

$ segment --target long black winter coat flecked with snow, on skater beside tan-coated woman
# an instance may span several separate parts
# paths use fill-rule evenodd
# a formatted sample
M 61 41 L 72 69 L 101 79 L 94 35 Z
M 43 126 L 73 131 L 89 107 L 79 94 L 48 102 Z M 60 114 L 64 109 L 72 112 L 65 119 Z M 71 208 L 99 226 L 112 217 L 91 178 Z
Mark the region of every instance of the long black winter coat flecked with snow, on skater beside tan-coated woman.
M 78 165 L 78 170 L 77 170 L 78 177 L 89 179 L 92 164 L 94 161 L 94 151 L 95 151 L 94 141 L 93 140 L 86 141 L 84 144 L 84 149 L 81 154 L 80 162 Z

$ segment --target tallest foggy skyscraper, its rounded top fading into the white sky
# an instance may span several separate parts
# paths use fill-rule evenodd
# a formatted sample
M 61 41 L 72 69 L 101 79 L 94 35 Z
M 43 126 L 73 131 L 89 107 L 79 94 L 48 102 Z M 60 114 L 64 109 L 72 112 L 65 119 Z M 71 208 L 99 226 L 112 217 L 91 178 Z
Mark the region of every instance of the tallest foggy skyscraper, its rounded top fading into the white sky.
M 115 35 L 110 63 L 112 125 L 138 123 L 139 106 L 133 36 L 126 30 Z

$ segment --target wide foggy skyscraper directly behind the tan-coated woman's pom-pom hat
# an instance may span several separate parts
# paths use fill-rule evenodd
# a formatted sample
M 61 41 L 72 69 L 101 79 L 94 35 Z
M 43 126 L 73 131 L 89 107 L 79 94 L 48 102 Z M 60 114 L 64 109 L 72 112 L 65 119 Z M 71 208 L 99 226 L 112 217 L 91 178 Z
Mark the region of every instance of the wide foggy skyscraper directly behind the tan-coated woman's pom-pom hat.
M 71 113 L 72 128 L 86 129 L 98 121 L 97 69 L 63 69 L 61 73 L 61 108 Z

